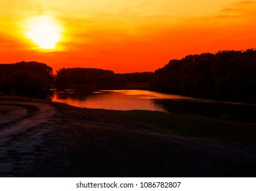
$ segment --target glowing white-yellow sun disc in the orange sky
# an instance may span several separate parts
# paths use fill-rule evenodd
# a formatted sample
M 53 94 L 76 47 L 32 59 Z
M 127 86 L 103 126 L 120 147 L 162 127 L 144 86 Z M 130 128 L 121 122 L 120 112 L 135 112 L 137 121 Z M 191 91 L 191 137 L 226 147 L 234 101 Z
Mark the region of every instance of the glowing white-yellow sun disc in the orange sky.
M 62 28 L 51 16 L 34 16 L 27 22 L 27 38 L 42 50 L 53 50 L 62 39 Z

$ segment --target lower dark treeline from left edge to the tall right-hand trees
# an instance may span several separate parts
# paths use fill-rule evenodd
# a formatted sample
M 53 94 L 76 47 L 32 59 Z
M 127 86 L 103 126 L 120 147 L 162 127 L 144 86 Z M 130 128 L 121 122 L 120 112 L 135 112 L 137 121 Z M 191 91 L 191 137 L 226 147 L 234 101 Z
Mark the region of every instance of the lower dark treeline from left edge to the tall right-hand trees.
M 151 76 L 153 72 L 115 74 L 97 68 L 62 68 L 53 74 L 45 63 L 21 61 L 0 64 L 0 95 L 46 98 L 54 87 L 122 87 L 130 82 L 149 83 Z

